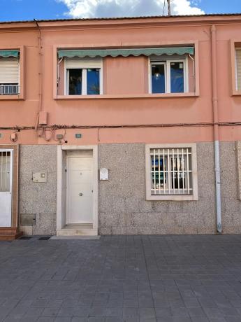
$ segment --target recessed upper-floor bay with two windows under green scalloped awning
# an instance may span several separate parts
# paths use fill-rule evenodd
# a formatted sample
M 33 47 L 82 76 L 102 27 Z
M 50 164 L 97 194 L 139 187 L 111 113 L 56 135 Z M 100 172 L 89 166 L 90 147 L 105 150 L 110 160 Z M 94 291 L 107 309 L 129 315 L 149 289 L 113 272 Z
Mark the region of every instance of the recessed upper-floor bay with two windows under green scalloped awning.
M 147 66 L 149 76 L 145 78 Z M 156 48 L 59 48 L 54 97 L 61 98 L 66 95 L 69 99 L 78 99 L 81 95 L 96 96 L 103 94 L 103 83 L 105 94 L 146 94 L 147 91 L 160 94 L 198 94 L 196 72 L 198 74 L 198 64 L 195 62 L 193 45 Z

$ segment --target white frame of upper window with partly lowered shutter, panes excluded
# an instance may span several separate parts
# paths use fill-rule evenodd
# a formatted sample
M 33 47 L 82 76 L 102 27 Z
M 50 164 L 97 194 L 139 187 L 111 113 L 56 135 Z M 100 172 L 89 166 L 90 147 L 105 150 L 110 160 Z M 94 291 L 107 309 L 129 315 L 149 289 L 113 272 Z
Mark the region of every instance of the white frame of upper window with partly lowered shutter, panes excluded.
M 79 58 L 80 62 L 82 58 Z M 85 61 L 85 64 L 83 64 L 81 66 L 76 66 L 76 67 L 71 67 L 71 68 L 67 68 L 66 66 L 66 59 L 64 59 L 64 95 L 69 95 L 68 94 L 68 90 L 69 90 L 69 69 L 82 69 L 82 94 L 80 94 L 80 96 L 82 95 L 86 95 L 89 97 L 92 97 L 93 94 L 87 94 L 87 69 L 100 69 L 100 93 L 96 94 L 96 95 L 101 95 L 103 94 L 103 59 L 98 59 L 98 66 L 91 66 L 91 62 L 93 62 L 94 59 L 89 59 L 89 66 L 87 65 L 87 59 L 82 59 L 83 61 Z M 70 96 L 78 96 L 78 95 L 70 95 Z

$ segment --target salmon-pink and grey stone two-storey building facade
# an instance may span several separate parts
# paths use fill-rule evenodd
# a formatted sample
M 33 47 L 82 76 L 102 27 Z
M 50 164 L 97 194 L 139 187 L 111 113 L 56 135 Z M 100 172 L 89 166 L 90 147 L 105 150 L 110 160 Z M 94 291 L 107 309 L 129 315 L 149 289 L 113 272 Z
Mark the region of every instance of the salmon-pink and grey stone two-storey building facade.
M 241 16 L 0 23 L 0 233 L 241 232 Z

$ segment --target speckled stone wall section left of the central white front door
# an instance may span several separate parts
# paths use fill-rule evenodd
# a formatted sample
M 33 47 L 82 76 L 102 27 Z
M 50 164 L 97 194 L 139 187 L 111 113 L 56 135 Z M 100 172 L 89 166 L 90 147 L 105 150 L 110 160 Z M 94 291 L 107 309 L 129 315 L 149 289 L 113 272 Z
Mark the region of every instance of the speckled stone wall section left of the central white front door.
M 47 172 L 46 183 L 34 183 L 33 172 Z M 19 220 L 24 215 L 34 225 L 22 225 L 26 235 L 56 235 L 57 146 L 20 146 Z

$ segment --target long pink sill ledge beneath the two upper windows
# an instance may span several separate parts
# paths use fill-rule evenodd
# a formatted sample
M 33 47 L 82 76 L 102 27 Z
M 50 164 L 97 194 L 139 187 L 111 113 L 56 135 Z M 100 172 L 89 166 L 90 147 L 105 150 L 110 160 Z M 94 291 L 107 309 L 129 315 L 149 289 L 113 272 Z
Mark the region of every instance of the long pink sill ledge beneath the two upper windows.
M 58 95 L 54 99 L 158 99 L 198 97 L 197 93 L 166 93 L 166 94 L 100 94 L 100 95 Z

